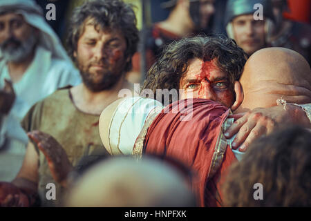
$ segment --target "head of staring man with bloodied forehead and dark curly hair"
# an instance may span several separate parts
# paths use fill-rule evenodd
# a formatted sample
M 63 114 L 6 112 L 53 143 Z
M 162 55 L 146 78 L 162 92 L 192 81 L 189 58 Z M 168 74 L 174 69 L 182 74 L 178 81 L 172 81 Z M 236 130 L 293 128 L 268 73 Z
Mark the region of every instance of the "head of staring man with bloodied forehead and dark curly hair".
M 174 61 L 167 66 L 171 59 Z M 185 38 L 166 48 L 149 70 L 143 89 L 153 90 L 154 95 L 157 89 L 179 89 L 179 99 L 211 99 L 235 109 L 240 95 L 236 97 L 234 88 L 240 85 L 238 78 L 246 59 L 243 49 L 231 39 Z

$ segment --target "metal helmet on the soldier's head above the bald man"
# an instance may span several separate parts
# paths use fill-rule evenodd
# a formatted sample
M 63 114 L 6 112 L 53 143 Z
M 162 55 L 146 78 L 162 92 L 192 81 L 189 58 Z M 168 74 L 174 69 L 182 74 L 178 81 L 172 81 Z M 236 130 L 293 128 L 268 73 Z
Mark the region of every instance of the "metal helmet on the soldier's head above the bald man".
M 270 0 L 228 0 L 225 10 L 225 26 L 239 15 L 254 14 L 254 5 L 260 3 L 263 6 L 263 16 L 274 21 L 272 2 Z

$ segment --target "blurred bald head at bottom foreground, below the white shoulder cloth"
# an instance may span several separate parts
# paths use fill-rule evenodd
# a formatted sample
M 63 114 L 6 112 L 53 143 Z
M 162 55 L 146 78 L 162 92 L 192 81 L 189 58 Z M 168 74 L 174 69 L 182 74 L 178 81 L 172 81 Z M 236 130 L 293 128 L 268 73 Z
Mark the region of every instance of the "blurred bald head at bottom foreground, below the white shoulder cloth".
M 113 157 L 91 167 L 77 180 L 66 206 L 196 206 L 182 173 L 147 157 Z

